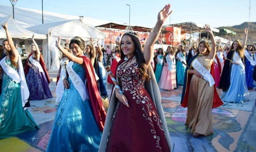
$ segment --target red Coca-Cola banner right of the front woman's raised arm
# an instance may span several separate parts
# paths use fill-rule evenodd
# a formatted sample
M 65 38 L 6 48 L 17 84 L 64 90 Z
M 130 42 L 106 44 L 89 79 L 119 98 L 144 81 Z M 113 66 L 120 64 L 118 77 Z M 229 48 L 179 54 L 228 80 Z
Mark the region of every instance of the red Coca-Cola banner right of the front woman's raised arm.
M 181 39 L 184 39 L 184 34 L 181 35 L 181 29 L 179 27 L 166 27 L 166 31 L 172 33 L 166 33 L 166 44 L 176 45 Z

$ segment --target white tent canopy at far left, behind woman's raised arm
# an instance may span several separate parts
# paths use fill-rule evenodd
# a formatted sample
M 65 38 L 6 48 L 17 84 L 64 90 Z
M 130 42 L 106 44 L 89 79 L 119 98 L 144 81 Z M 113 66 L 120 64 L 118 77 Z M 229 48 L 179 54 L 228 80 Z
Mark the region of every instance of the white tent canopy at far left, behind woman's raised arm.
M 8 29 L 10 32 L 10 35 L 12 38 L 19 38 L 19 39 L 28 39 L 31 38 L 32 35 L 34 34 L 35 39 L 46 39 L 46 35 L 44 34 L 38 34 L 38 33 L 33 33 L 19 24 L 15 22 L 15 20 L 11 17 L 0 17 L 0 24 L 4 25 L 4 23 L 7 22 Z M 6 38 L 6 33 L 4 28 L 1 26 L 0 27 L 0 39 Z

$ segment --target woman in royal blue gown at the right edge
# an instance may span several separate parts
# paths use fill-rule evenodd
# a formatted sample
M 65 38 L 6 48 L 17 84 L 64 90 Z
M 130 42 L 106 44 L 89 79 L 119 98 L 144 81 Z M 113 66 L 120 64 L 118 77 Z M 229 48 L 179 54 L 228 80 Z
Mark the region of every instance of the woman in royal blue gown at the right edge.
M 255 44 L 253 44 L 253 45 L 255 47 Z M 250 57 L 252 57 L 252 59 L 254 59 L 253 54 L 256 53 L 256 51 L 253 50 L 253 46 L 252 45 L 248 44 L 245 51 L 247 51 L 248 54 L 250 55 Z M 252 79 L 254 66 L 251 65 L 251 62 L 246 57 L 244 59 L 245 59 L 246 84 L 247 84 L 248 89 L 252 89 L 252 88 L 255 87 L 253 85 L 253 79 Z

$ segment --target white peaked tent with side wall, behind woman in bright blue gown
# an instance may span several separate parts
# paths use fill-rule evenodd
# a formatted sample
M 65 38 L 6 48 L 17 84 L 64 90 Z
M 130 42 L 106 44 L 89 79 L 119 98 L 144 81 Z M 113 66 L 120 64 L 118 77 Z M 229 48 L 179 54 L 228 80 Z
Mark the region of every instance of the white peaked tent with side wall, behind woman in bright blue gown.
M 48 49 L 43 50 L 44 60 L 49 70 L 59 69 L 59 50 L 55 47 L 55 41 L 60 35 L 63 40 L 80 36 L 88 41 L 91 37 L 100 40 L 104 44 L 105 35 L 86 22 L 86 19 L 75 19 L 55 23 L 41 24 L 27 28 L 30 31 L 48 35 Z M 44 52 L 46 51 L 46 52 Z M 51 60 L 52 58 L 52 60 Z

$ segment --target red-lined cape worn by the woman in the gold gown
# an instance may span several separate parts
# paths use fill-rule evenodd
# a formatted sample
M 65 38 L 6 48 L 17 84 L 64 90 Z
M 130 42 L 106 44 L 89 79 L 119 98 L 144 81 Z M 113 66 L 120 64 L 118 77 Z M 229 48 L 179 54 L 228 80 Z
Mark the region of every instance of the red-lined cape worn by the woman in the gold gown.
M 211 72 L 210 73 L 211 73 L 211 75 L 214 78 L 214 63 L 212 63 L 212 65 L 211 65 Z M 181 104 L 181 106 L 184 107 L 184 108 L 188 106 L 189 86 L 190 86 L 190 81 L 191 81 L 192 75 L 193 74 L 188 74 L 188 76 L 187 76 L 186 92 L 185 92 L 185 96 L 184 96 L 183 102 Z M 223 105 L 223 102 L 221 101 L 221 99 L 220 99 L 220 97 L 219 97 L 219 95 L 217 93 L 215 84 L 214 84 L 213 87 L 214 87 L 214 94 L 213 94 L 212 108 L 217 108 L 217 107 Z

